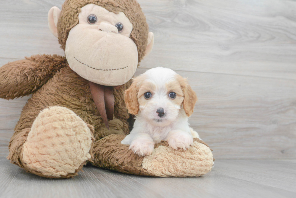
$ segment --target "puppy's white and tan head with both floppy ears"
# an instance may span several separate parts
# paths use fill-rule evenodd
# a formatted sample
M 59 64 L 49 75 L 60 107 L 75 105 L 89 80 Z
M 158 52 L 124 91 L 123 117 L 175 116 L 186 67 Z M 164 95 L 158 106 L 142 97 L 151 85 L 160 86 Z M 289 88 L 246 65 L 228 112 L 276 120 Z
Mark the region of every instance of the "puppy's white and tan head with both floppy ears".
M 175 121 L 181 108 L 190 116 L 197 101 L 187 79 L 162 67 L 147 70 L 134 78 L 124 99 L 129 113 L 141 116 L 155 126 Z

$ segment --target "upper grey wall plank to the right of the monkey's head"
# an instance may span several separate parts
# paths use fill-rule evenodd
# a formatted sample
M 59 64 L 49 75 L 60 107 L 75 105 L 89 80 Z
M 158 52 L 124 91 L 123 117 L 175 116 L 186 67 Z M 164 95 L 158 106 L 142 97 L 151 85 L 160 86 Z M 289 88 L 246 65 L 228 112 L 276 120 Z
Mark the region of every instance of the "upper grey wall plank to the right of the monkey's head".
M 296 79 L 296 2 L 140 1 L 155 34 L 141 67 Z

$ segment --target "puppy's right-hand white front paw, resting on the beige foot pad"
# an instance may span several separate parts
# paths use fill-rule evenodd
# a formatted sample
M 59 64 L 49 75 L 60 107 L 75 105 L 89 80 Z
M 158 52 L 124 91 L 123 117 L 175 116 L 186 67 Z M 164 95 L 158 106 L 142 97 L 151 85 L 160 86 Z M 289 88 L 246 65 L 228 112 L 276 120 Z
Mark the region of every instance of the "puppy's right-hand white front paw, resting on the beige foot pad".
M 190 145 L 193 144 L 193 138 L 190 134 L 180 131 L 172 134 L 169 139 L 169 146 L 171 146 L 173 149 L 182 148 L 186 150 L 190 147 Z

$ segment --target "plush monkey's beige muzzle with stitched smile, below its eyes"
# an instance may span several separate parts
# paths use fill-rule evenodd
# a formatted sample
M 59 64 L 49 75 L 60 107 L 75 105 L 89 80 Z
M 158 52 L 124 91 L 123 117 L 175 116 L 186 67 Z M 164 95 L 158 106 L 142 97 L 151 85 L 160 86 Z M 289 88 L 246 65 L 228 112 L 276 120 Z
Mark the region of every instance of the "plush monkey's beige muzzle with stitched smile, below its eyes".
M 66 41 L 66 58 L 79 76 L 105 86 L 127 83 L 136 72 L 136 44 L 121 34 L 77 24 Z M 87 35 L 87 36 L 85 36 Z

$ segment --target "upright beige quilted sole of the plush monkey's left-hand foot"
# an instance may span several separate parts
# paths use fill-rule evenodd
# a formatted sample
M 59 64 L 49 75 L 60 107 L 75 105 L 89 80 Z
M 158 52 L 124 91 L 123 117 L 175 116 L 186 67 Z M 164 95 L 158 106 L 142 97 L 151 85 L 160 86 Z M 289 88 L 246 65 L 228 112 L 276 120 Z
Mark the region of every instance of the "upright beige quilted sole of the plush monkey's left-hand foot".
M 91 158 L 92 133 L 74 112 L 49 107 L 35 119 L 23 145 L 22 161 L 43 177 L 72 177 Z

